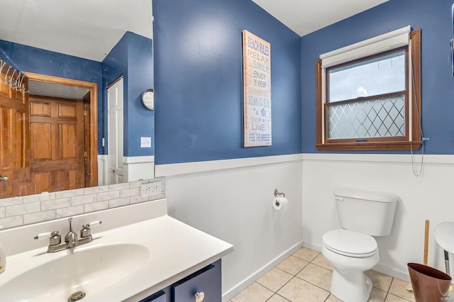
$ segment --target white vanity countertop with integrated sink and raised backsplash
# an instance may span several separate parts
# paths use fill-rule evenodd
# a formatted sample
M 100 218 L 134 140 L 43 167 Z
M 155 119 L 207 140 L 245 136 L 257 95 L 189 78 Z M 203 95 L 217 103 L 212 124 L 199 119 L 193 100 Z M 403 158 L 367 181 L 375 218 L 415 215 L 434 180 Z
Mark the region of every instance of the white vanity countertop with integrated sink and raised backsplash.
M 121 219 L 120 219 L 121 218 Z M 93 241 L 47 253 L 33 237 L 67 230 L 67 218 L 0 230 L 6 270 L 0 302 L 137 302 L 233 251 L 233 245 L 167 216 L 167 201 L 150 201 L 75 216 L 73 225 L 102 220 Z

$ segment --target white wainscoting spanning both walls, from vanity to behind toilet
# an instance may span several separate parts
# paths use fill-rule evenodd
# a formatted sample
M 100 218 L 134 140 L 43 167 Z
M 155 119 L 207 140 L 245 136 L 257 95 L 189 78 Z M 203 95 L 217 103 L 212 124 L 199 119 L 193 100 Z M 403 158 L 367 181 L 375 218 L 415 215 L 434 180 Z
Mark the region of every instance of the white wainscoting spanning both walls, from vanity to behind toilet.
M 419 169 L 420 155 L 414 160 Z M 235 246 L 223 259 L 223 301 L 301 240 L 321 250 L 322 235 L 339 228 L 333 191 L 340 186 L 389 191 L 401 199 L 392 234 L 377 237 L 377 271 L 409 280 L 406 264 L 423 261 L 426 219 L 428 264 L 445 270 L 434 233 L 439 223 L 454 220 L 454 155 L 425 155 L 420 177 L 413 174 L 411 155 L 326 153 L 157 165 L 156 175 L 166 177 L 171 216 Z M 274 189 L 289 197 L 291 211 L 272 211 Z

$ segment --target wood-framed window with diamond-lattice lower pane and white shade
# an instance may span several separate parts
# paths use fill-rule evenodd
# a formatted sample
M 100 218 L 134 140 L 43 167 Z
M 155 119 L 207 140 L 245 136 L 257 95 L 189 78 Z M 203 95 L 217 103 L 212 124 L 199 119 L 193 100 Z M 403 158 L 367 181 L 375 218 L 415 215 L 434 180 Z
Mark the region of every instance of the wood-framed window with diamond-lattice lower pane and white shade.
M 319 150 L 421 146 L 421 30 L 409 26 L 321 55 L 316 62 Z

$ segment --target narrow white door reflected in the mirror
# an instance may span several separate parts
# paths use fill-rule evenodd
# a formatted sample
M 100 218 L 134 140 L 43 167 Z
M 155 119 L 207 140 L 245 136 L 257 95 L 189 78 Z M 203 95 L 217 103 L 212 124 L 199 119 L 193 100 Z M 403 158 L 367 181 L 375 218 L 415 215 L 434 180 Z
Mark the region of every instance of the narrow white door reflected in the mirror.
M 124 182 L 123 177 L 123 78 L 107 89 L 107 129 L 109 184 Z

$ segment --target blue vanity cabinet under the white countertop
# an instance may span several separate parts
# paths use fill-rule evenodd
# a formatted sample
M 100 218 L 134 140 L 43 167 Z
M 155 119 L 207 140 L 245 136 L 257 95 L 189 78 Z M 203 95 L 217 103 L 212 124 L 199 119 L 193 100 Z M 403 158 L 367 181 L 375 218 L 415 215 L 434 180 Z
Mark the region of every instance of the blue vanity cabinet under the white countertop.
M 204 302 L 222 301 L 221 259 L 139 302 L 195 302 L 196 293 L 204 293 Z

